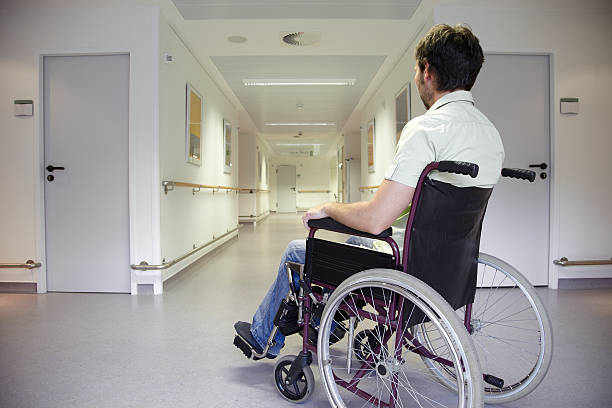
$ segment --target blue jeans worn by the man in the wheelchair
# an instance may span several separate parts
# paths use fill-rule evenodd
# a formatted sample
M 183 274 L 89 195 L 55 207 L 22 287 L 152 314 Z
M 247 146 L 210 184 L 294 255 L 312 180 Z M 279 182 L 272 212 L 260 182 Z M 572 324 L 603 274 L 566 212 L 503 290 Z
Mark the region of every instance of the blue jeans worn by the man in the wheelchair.
M 362 237 L 349 237 L 346 241 L 351 245 L 363 245 L 372 248 L 372 240 Z M 304 264 L 306 260 L 306 240 L 296 239 L 287 245 L 287 249 L 283 253 L 276 280 L 268 290 L 263 301 L 257 308 L 257 312 L 253 316 L 251 325 L 251 334 L 259 343 L 259 346 L 264 349 L 268 341 L 272 328 L 274 327 L 274 316 L 278 311 L 278 307 L 282 300 L 289 293 L 289 280 L 287 279 L 287 271 L 285 270 L 285 262 L 295 262 Z M 294 277 L 295 279 L 295 277 Z M 275 344 L 268 350 L 269 354 L 278 355 L 280 349 L 285 345 L 285 336 L 280 331 L 274 336 Z

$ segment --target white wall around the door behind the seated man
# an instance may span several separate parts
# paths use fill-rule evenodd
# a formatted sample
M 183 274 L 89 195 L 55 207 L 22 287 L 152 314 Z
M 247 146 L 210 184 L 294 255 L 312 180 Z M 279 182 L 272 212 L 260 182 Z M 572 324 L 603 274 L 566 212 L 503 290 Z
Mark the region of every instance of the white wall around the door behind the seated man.
M 441 6 L 438 22 L 468 23 L 485 52 L 546 53 L 552 61 L 551 261 L 612 256 L 612 3 L 478 1 Z M 503 27 L 503 29 L 500 29 Z M 561 115 L 559 99 L 580 98 L 578 115 Z M 559 277 L 612 277 L 608 267 L 552 267 Z

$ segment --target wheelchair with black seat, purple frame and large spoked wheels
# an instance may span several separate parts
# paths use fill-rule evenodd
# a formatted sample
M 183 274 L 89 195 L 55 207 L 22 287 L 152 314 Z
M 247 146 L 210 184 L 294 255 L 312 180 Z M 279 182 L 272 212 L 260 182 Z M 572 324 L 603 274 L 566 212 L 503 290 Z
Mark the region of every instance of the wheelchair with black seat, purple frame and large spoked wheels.
M 234 340 L 258 359 L 278 330 L 302 335 L 302 351 L 280 357 L 274 369 L 286 400 L 311 396 L 313 352 L 334 407 L 481 407 L 520 398 L 545 376 L 552 330 L 541 301 L 515 268 L 479 253 L 492 189 L 427 177 L 434 170 L 478 174 L 464 162 L 423 170 L 402 252 L 390 228 L 373 235 L 330 218 L 309 222 L 306 262 L 286 265 L 290 290 L 265 349 Z M 502 175 L 535 176 L 521 169 Z M 392 253 L 318 239 L 318 230 L 383 240 Z

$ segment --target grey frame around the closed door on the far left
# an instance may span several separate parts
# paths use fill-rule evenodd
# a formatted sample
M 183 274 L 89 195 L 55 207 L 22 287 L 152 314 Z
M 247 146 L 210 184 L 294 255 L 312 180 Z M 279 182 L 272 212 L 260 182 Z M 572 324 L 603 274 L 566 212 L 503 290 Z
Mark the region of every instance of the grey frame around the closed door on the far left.
M 130 260 L 134 259 L 134 249 L 136 248 L 134 242 L 134 172 L 133 172 L 133 152 L 134 152 L 134 138 L 132 133 L 132 115 L 133 103 L 134 103 L 134 72 L 132 70 L 132 55 L 129 50 L 117 49 L 117 50 L 92 50 L 92 49 L 60 49 L 60 50 L 45 50 L 37 51 L 36 58 L 38 62 L 38 107 L 34 108 L 34 114 L 38 116 L 38 127 L 35 132 L 38 132 L 38 137 L 35 135 L 37 143 L 34 143 L 34 160 L 33 163 L 36 168 L 33 171 L 35 176 L 34 181 L 34 206 L 35 206 L 35 222 L 37 226 L 34 232 L 35 247 L 38 259 L 41 259 L 41 267 L 38 268 L 37 276 L 37 293 L 47 293 L 47 248 L 45 245 L 46 237 L 46 216 L 45 216 L 45 184 L 43 179 L 45 177 L 45 126 L 44 126 L 44 59 L 45 57 L 79 57 L 79 56 L 112 56 L 112 55 L 127 55 L 128 62 L 128 242 L 129 242 L 129 254 Z M 157 86 L 157 85 L 156 85 Z M 155 104 L 158 106 L 158 104 Z M 155 116 L 158 115 L 156 110 Z M 156 137 L 157 138 L 157 137 Z M 95 260 L 92 260 L 95 262 Z M 129 265 L 126 265 L 129 268 Z M 130 277 L 131 280 L 131 277 Z

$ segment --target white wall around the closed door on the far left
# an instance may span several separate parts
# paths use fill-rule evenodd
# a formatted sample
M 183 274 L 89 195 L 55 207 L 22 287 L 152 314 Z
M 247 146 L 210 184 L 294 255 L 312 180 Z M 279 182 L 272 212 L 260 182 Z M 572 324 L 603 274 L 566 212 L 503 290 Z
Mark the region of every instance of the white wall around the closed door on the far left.
M 154 163 L 159 9 L 62 8 L 55 3 L 0 13 L 0 262 L 43 262 L 43 268 L 33 272 L 0 270 L 0 281 L 38 282 L 39 291 L 46 290 L 41 55 L 130 54 L 130 259 L 138 263 L 159 258 Z M 32 99 L 34 116 L 15 117 L 15 99 Z

